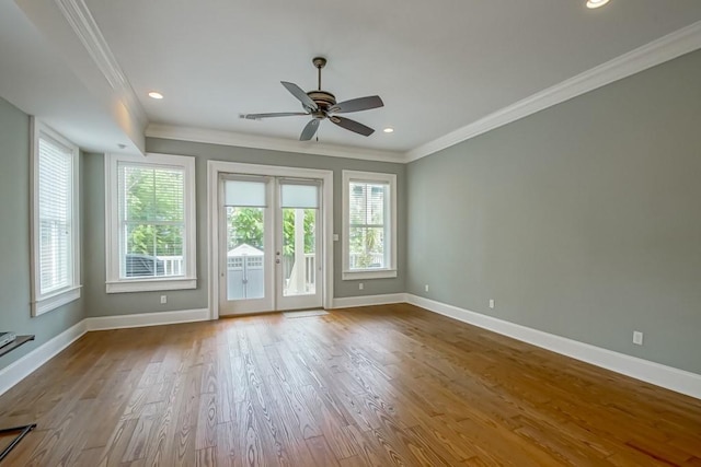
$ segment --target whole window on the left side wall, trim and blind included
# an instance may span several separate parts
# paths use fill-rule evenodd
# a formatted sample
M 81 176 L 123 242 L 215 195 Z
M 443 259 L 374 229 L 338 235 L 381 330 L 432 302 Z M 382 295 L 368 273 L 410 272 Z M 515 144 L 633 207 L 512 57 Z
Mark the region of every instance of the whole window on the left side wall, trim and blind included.
M 78 147 L 33 119 L 32 315 L 80 297 Z

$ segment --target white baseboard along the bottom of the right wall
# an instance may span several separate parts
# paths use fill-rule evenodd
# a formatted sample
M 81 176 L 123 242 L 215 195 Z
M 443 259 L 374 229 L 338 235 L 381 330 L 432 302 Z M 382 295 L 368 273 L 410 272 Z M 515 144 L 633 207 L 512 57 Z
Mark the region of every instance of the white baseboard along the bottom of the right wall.
M 701 375 L 696 373 L 601 349 L 411 293 L 406 294 L 406 301 L 430 312 L 701 399 Z

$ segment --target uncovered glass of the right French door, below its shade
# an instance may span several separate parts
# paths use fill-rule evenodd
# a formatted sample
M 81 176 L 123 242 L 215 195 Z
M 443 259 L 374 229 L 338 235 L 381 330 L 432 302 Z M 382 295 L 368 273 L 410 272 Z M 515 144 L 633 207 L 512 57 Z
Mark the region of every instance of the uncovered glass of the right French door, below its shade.
M 315 187 L 314 187 L 315 189 Z M 317 209 L 283 210 L 283 296 L 317 292 Z

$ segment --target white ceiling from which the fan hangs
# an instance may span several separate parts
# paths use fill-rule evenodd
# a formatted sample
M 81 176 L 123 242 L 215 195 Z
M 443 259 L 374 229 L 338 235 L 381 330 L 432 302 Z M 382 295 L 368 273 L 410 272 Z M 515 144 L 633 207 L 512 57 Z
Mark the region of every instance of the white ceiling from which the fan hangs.
M 379 94 L 386 104 L 348 115 L 378 130 L 369 138 L 324 121 L 320 142 L 395 153 L 701 21 L 699 0 L 611 0 L 598 10 L 584 0 L 18 0 L 46 48 L 71 65 L 71 44 L 56 32 L 56 22 L 66 20 L 55 5 L 37 8 L 41 2 L 87 5 L 139 101 L 133 113 L 145 112 L 151 124 L 301 144 L 304 117 L 238 116 L 300 110 L 279 81 L 315 89 L 311 59 L 320 55 L 329 59 L 323 87 L 338 101 Z M 9 3 L 0 0 L 0 16 Z M 16 72 L 5 75 L 8 55 L 0 48 L 0 78 L 21 80 Z M 94 96 L 84 70 L 77 74 Z M 14 87 L 26 85 L 0 92 L 26 106 Z M 151 90 L 165 98 L 150 100 Z M 383 133 L 387 126 L 395 132 Z

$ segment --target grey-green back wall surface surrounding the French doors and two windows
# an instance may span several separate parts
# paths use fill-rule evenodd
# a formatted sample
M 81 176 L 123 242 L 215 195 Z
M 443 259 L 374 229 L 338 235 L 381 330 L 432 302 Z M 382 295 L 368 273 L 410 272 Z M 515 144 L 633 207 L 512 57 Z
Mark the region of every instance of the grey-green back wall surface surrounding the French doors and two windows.
M 401 293 L 405 290 L 406 269 L 406 180 L 404 164 L 358 161 L 354 159 L 330 157 L 218 144 L 194 143 L 186 141 L 147 138 L 147 152 L 196 156 L 196 203 L 197 203 L 197 289 L 168 292 L 105 292 L 105 235 L 104 206 L 105 179 L 104 157 L 89 154 L 84 162 L 85 199 L 84 211 L 88 232 L 84 247 L 90 252 L 85 270 L 87 311 L 89 316 L 127 315 L 161 311 L 207 308 L 208 261 L 207 261 L 207 161 L 243 162 L 263 165 L 320 168 L 334 172 L 334 232 L 341 234 L 341 175 L 343 170 L 384 172 L 397 174 L 398 189 L 398 277 L 393 279 L 363 280 L 364 290 L 358 289 L 360 281 L 341 280 L 341 242 L 334 242 L 334 297 L 354 295 L 375 295 Z M 159 297 L 168 294 L 168 304 L 161 305 Z

